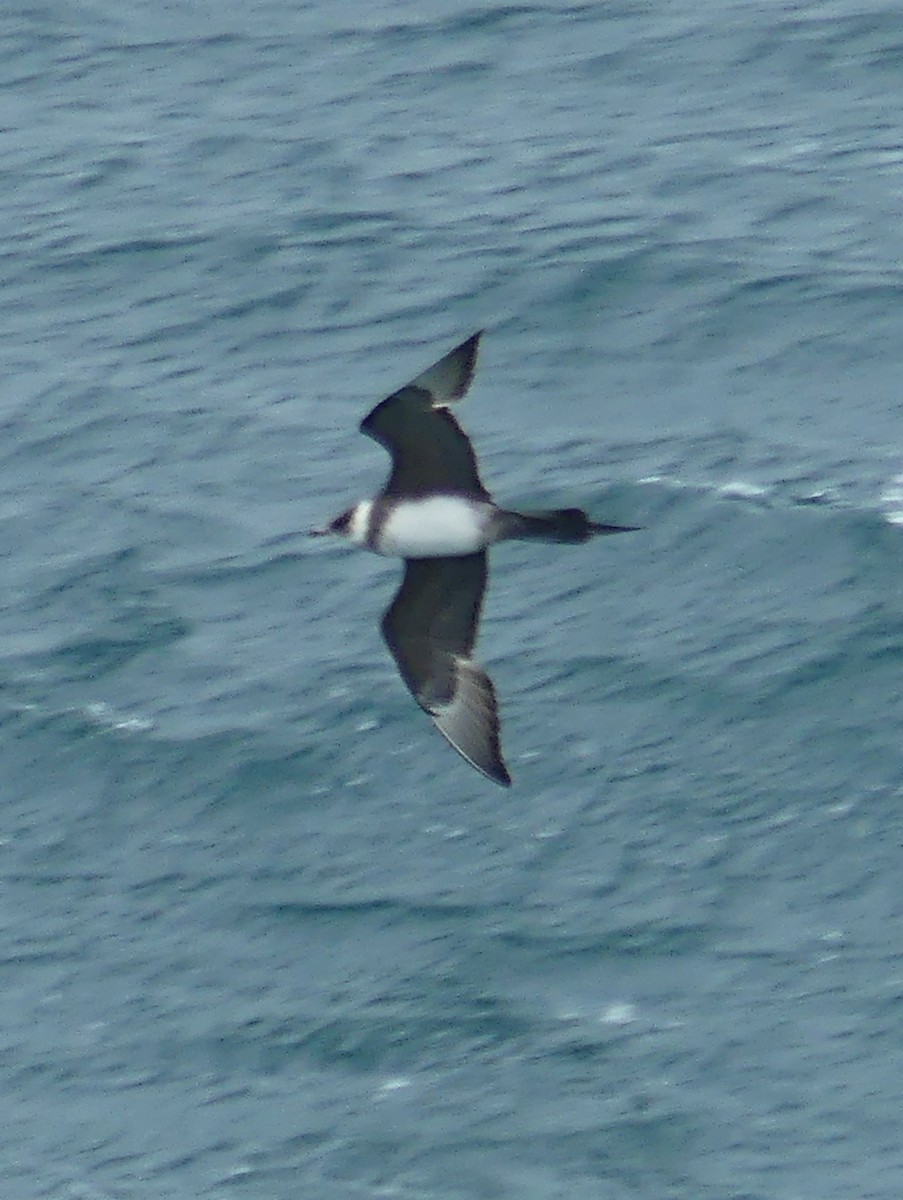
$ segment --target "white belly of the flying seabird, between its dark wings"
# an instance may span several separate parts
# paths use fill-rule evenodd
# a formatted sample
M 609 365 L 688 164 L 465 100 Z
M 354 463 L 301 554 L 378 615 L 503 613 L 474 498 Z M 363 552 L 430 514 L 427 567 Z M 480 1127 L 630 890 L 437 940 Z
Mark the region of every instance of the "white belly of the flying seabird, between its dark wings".
M 401 558 L 474 554 L 492 540 L 494 511 L 491 504 L 460 496 L 402 500 L 382 527 L 377 553 Z

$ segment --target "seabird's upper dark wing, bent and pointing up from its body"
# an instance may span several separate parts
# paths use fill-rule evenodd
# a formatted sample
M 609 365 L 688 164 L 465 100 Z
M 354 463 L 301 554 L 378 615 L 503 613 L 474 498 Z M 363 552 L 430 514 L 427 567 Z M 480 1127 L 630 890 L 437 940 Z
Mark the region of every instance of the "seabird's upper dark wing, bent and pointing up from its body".
M 360 422 L 391 455 L 385 496 L 458 492 L 489 499 L 467 434 L 448 410 L 471 385 L 480 334 L 383 400 Z

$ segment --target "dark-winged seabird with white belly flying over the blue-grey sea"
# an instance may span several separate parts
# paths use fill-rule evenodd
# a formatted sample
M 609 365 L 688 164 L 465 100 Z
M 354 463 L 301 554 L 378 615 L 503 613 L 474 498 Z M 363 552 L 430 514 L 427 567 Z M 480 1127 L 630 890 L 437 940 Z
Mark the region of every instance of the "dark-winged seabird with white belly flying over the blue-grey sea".
M 391 455 L 382 492 L 315 535 L 339 534 L 405 559 L 405 577 L 382 620 L 401 678 L 454 749 L 496 784 L 502 757 L 495 688 L 473 659 L 486 548 L 510 539 L 584 542 L 634 526 L 597 524 L 582 509 L 512 512 L 483 485 L 467 434 L 449 412 L 473 379 L 480 334 L 461 342 L 364 418 L 361 433 Z

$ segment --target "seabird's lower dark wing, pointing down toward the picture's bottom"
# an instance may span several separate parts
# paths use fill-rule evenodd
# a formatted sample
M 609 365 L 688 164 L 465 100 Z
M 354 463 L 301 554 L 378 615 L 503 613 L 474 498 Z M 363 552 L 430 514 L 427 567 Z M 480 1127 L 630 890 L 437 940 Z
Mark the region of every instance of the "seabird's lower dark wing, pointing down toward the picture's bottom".
M 383 617 L 401 678 L 442 736 L 484 775 L 507 787 L 492 680 L 471 658 L 486 556 L 412 558 Z

